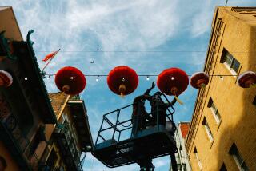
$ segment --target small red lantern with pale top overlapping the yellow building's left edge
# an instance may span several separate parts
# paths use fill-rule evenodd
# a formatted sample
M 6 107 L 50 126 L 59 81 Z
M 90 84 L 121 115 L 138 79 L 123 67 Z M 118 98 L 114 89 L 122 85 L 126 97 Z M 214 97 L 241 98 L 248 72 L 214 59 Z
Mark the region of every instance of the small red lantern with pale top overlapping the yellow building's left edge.
M 195 89 L 201 89 L 209 83 L 209 75 L 205 72 L 194 73 L 190 78 L 190 85 Z

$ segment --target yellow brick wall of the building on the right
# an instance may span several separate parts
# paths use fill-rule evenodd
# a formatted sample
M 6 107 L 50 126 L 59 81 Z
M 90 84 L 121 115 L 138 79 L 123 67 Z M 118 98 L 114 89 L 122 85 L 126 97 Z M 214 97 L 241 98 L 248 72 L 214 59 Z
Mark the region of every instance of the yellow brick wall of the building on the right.
M 212 35 L 206 56 L 205 72 L 210 75 L 236 75 L 247 70 L 256 72 L 256 8 L 217 7 L 212 23 Z M 240 62 L 238 72 L 221 63 L 222 52 L 228 50 Z M 242 89 L 237 76 L 210 77 L 205 89 L 200 89 L 186 141 L 193 170 L 239 170 L 229 153 L 235 143 L 250 170 L 256 170 L 256 96 L 255 86 Z M 222 117 L 218 124 L 207 107 L 210 97 Z M 214 137 L 211 142 L 204 118 Z M 196 148 L 196 151 L 194 150 Z

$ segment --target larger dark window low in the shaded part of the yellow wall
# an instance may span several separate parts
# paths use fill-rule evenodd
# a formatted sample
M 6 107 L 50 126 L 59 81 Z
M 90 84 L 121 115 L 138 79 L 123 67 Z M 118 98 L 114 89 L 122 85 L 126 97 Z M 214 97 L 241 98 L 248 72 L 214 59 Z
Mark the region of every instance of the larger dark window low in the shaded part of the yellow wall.
M 238 165 L 238 169 L 244 170 L 244 171 L 249 170 L 247 165 L 246 165 L 246 162 L 243 160 L 241 154 L 238 151 L 237 145 L 235 145 L 233 143 L 233 145 L 230 148 L 230 152 L 229 153 L 230 153 L 230 155 L 232 155 L 232 157 L 234 158 L 234 161 Z

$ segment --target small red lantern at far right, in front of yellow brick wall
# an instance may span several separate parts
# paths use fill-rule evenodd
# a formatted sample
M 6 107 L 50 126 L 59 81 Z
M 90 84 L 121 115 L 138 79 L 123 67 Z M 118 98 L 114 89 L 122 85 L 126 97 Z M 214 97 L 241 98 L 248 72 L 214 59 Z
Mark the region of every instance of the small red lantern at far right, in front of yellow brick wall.
M 242 88 L 250 88 L 256 85 L 256 73 L 253 71 L 246 71 L 238 76 L 238 85 Z

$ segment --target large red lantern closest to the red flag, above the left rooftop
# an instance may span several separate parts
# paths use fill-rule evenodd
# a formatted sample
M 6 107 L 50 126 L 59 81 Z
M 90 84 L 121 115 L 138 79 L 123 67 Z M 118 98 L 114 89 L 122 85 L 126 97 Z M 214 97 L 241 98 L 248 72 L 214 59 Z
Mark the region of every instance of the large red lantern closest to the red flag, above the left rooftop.
M 72 66 L 66 66 L 58 70 L 55 76 L 55 84 L 62 92 L 76 95 L 85 89 L 86 78 L 81 70 Z

